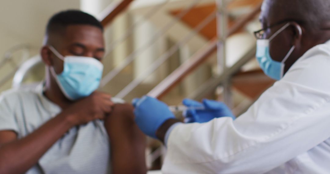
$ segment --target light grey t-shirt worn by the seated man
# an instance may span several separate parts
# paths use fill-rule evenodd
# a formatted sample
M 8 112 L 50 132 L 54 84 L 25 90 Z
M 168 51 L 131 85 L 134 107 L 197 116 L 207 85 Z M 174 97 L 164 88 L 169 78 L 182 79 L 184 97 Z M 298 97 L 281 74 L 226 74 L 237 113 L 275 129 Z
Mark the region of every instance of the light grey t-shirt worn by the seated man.
M 0 96 L 0 130 L 13 130 L 21 139 L 60 112 L 40 86 L 35 90 L 9 90 Z M 109 151 L 103 122 L 93 121 L 70 129 L 26 174 L 110 173 Z

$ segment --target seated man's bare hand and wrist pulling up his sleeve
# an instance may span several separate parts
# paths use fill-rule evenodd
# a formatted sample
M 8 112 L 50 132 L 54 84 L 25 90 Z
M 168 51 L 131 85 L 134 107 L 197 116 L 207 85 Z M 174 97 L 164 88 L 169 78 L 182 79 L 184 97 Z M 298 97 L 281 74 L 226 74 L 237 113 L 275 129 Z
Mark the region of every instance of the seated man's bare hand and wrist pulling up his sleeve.
M 68 116 L 73 126 L 82 125 L 96 119 L 103 120 L 112 111 L 113 105 L 109 94 L 94 92 L 66 108 L 62 114 Z

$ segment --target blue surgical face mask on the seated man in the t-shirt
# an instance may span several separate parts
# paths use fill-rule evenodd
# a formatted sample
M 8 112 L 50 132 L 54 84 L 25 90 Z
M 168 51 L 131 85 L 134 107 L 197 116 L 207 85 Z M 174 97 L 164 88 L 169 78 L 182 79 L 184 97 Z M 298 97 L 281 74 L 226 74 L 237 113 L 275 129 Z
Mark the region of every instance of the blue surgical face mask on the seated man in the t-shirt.
M 100 61 L 92 57 L 64 57 L 54 47 L 49 48 L 64 61 L 63 72 L 56 74 L 53 67 L 50 67 L 50 72 L 67 99 L 74 101 L 87 97 L 99 87 L 103 73 Z

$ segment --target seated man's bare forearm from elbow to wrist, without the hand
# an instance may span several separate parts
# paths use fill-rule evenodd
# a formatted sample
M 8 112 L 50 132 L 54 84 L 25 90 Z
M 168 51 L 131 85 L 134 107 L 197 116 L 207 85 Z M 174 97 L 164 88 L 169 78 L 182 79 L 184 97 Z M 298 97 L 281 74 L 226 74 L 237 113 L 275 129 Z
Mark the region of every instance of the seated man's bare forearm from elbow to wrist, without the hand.
M 0 173 L 25 173 L 73 124 L 64 114 L 49 120 L 28 136 L 0 146 Z

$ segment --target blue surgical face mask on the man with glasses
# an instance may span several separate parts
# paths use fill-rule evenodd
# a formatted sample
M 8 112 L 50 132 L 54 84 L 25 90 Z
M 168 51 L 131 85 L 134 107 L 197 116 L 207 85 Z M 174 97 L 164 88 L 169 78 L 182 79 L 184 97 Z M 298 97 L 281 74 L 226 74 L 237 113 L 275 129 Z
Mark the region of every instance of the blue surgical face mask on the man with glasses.
M 274 33 L 274 35 L 272 35 L 269 39 L 257 40 L 257 52 L 256 52 L 257 61 L 263 72 L 275 80 L 280 80 L 283 77 L 285 61 L 292 54 L 293 50 L 295 49 L 295 46 L 291 47 L 291 49 L 289 50 L 289 52 L 286 54 L 286 56 L 283 58 L 281 62 L 277 62 L 273 60 L 270 55 L 269 43 L 289 25 L 290 25 L 289 23 L 284 25 L 281 29 L 279 29 L 276 33 Z

